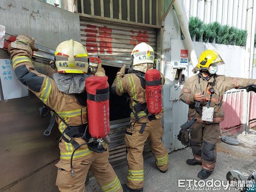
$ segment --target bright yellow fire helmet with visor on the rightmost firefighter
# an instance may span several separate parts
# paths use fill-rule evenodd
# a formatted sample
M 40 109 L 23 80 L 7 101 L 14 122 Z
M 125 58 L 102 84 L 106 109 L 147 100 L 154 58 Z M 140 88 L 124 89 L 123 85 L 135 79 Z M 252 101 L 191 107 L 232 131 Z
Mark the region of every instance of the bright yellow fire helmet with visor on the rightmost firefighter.
M 198 64 L 194 67 L 192 72 L 197 73 L 200 70 L 207 71 L 209 66 L 213 64 L 219 66 L 224 64 L 224 61 L 217 52 L 213 50 L 206 50 L 201 53 Z

